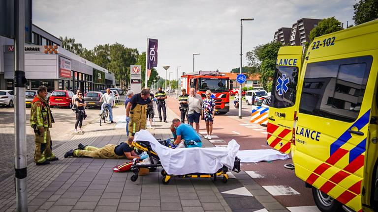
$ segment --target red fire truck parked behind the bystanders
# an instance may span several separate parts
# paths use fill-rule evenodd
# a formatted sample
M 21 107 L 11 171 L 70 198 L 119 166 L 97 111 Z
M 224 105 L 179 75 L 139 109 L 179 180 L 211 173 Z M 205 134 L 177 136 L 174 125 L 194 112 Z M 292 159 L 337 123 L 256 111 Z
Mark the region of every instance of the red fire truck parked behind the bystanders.
M 215 96 L 215 109 L 219 114 L 230 110 L 229 90 L 232 89 L 232 80 L 222 76 L 219 71 L 198 71 L 181 76 L 181 88 L 195 88 L 202 99 L 206 98 L 206 91 L 211 90 Z

